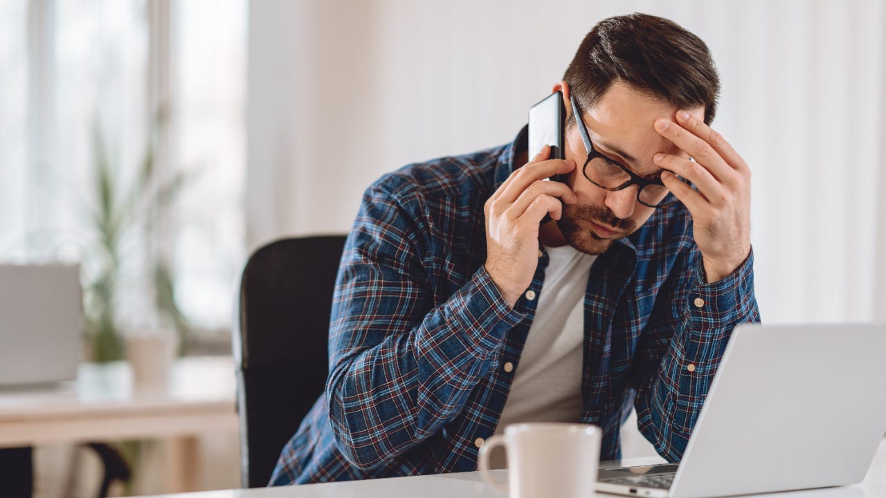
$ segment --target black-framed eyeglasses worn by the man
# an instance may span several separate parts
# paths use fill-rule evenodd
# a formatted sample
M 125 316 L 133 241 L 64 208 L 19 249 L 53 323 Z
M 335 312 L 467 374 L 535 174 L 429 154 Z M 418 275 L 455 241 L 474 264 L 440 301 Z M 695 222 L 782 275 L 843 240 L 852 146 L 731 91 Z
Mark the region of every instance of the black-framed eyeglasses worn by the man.
M 594 183 L 605 191 L 621 191 L 631 185 L 637 185 L 637 200 L 643 206 L 667 208 L 680 200 L 671 194 L 671 191 L 662 183 L 657 176 L 643 177 L 622 166 L 614 160 L 602 155 L 591 144 L 591 137 L 587 135 L 585 121 L 581 119 L 583 113 L 576 102 L 575 97 L 570 97 L 572 114 L 575 116 L 575 124 L 579 127 L 581 141 L 585 143 L 587 160 L 581 168 L 582 175 L 590 183 Z M 678 176 L 680 180 L 689 183 L 686 179 Z

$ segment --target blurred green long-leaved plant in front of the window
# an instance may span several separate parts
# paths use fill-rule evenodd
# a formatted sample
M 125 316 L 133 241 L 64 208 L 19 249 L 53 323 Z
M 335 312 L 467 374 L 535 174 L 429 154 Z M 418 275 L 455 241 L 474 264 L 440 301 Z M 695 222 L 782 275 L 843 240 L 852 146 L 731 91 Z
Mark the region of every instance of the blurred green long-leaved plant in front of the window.
M 84 292 L 86 331 L 91 343 L 91 359 L 96 362 L 124 357 L 124 329 L 133 323 L 122 316 L 121 296 L 141 292 L 147 302 L 147 317 L 136 327 L 152 333 L 175 331 L 175 349 L 180 351 L 190 330 L 175 301 L 172 269 L 155 243 L 159 222 L 181 194 L 189 176 L 176 172 L 160 178 L 155 167 L 159 129 L 164 120 L 155 120 L 136 175 L 126 183 L 120 168 L 113 167 L 98 125 L 93 128 L 93 188 L 96 203 L 90 213 L 93 243 L 89 245 L 88 282 Z M 140 276 L 133 284 L 132 269 Z M 128 331 L 132 332 L 132 331 Z M 140 331 L 143 332 L 144 330 Z M 143 337 L 144 338 L 144 337 Z M 137 340 L 134 344 L 137 344 Z M 144 346 L 144 341 L 142 341 Z M 139 347 L 139 346 L 136 346 Z M 134 365 L 135 367 L 135 365 Z

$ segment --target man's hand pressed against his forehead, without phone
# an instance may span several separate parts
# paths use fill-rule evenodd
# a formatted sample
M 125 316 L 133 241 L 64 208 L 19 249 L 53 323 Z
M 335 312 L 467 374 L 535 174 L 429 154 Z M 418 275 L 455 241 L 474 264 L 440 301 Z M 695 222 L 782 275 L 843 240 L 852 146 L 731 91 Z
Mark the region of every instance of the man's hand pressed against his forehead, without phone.
M 723 136 L 685 111 L 655 128 L 692 160 L 658 153 L 662 182 L 692 214 L 708 282 L 732 274 L 750 253 L 750 167 Z M 687 179 L 696 189 L 671 173 Z

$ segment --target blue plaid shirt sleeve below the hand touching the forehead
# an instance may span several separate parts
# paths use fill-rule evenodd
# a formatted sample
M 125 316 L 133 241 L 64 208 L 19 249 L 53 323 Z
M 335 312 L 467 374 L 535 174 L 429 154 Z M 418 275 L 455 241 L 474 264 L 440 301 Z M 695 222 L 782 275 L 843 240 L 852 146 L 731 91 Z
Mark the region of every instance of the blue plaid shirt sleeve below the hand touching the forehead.
M 685 253 L 644 331 L 636 385 L 638 426 L 669 462 L 679 462 L 686 449 L 734 326 L 760 321 L 753 252 L 711 284 L 703 281 L 696 245 Z

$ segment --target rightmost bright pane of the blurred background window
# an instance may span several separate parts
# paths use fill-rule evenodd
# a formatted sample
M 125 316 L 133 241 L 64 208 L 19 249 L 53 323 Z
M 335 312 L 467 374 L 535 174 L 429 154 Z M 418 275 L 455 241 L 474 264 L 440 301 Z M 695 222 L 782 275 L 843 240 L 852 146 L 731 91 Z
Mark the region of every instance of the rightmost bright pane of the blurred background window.
M 178 0 L 172 12 L 175 161 L 195 179 L 176 211 L 178 296 L 195 323 L 223 330 L 245 248 L 246 3 Z

